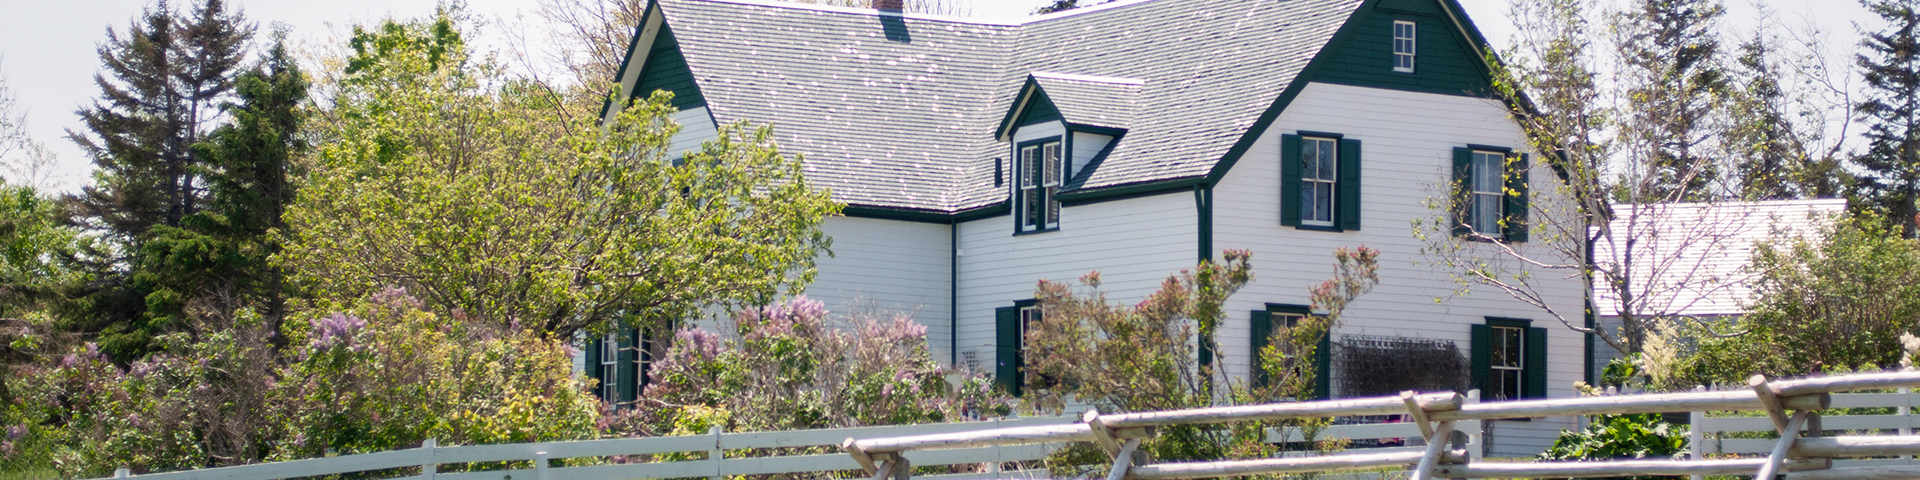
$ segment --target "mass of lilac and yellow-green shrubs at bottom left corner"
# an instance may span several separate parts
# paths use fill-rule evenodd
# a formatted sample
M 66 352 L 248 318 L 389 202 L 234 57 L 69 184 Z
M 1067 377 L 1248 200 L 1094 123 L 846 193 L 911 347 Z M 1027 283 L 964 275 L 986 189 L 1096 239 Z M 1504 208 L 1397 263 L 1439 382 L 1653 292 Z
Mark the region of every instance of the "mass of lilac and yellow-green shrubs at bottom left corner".
M 263 321 L 165 334 L 129 367 L 88 344 L 15 380 L 0 405 L 0 465 L 52 459 L 63 476 L 204 468 L 332 453 L 580 440 L 599 401 L 563 346 L 420 309 L 390 290 L 288 326 L 276 353 Z M 278 367 L 286 365 L 286 367 Z

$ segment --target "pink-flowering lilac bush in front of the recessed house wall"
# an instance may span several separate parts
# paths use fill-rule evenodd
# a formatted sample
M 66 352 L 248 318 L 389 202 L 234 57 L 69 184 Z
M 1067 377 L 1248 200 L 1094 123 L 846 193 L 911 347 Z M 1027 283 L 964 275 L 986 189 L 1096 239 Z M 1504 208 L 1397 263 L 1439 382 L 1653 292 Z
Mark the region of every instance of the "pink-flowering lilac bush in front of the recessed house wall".
M 820 301 L 795 298 L 733 317 L 735 338 L 684 328 L 655 365 L 641 409 L 614 432 L 841 428 L 952 422 L 1006 415 L 987 378 L 948 371 L 927 351 L 927 328 L 906 317 L 828 323 Z

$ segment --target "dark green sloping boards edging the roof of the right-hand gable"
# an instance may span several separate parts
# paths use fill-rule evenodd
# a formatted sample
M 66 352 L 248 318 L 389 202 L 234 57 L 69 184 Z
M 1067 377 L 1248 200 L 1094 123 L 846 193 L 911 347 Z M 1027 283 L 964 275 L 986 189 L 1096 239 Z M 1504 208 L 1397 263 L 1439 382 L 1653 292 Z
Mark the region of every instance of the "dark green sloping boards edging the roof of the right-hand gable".
M 1469 50 L 1478 52 L 1478 56 L 1475 56 L 1475 58 L 1478 58 L 1480 73 L 1486 75 L 1486 77 L 1492 77 L 1492 65 L 1488 63 L 1488 56 L 1492 56 L 1492 48 L 1486 42 L 1486 38 L 1480 36 L 1478 29 L 1473 25 L 1473 21 L 1467 19 L 1465 15 L 1461 15 L 1461 12 L 1465 12 L 1465 10 L 1459 6 L 1459 2 L 1457 0 L 1430 0 L 1430 2 L 1440 2 L 1440 6 L 1446 10 L 1446 17 L 1453 23 L 1453 29 L 1448 29 L 1448 31 L 1453 31 L 1455 40 L 1465 40 L 1467 46 L 1469 46 Z M 1373 15 L 1377 12 L 1379 4 L 1380 4 L 1380 0 L 1369 0 L 1369 2 L 1365 2 L 1359 8 L 1354 10 L 1354 13 L 1346 19 L 1346 23 L 1340 25 L 1340 31 L 1332 35 L 1332 38 L 1327 42 L 1327 46 L 1321 46 L 1319 54 L 1315 54 L 1313 60 L 1309 60 L 1308 65 L 1304 69 L 1300 69 L 1300 75 L 1296 75 L 1294 81 L 1286 84 L 1286 90 L 1281 90 L 1281 96 L 1271 106 L 1267 106 L 1267 111 L 1261 111 L 1260 119 L 1256 119 L 1254 125 L 1246 129 L 1246 132 L 1240 136 L 1240 140 L 1236 140 L 1233 144 L 1233 148 L 1229 148 L 1227 154 L 1221 156 L 1221 159 L 1213 163 L 1213 169 L 1208 171 L 1208 175 L 1202 179 L 1204 182 L 1215 184 L 1223 177 L 1227 177 L 1227 171 L 1233 171 L 1233 165 L 1238 163 L 1240 157 L 1246 156 L 1246 152 L 1250 148 L 1254 148 L 1254 142 L 1258 142 L 1260 136 L 1267 132 L 1267 127 L 1273 127 L 1273 121 L 1281 117 L 1281 111 L 1284 111 L 1286 106 L 1290 106 L 1294 102 L 1294 98 L 1300 98 L 1300 92 L 1306 90 L 1308 83 L 1313 83 L 1313 81 L 1327 83 L 1327 81 L 1321 79 L 1323 77 L 1321 71 L 1327 69 L 1327 63 L 1331 61 L 1329 58 L 1332 58 L 1332 56 L 1329 56 L 1329 52 L 1340 52 L 1340 46 L 1344 46 L 1348 42 L 1348 38 L 1354 36 L 1354 31 L 1365 27 L 1365 25 L 1359 25 L 1361 21 L 1357 21 L 1357 19 L 1361 19 L 1365 15 Z M 1402 88 L 1402 90 L 1407 90 L 1407 88 Z M 1413 90 L 1413 92 L 1421 92 L 1421 90 Z M 1463 92 L 1434 92 L 1434 94 L 1455 94 L 1455 96 L 1459 96 Z M 1524 98 L 1521 98 L 1521 100 L 1501 98 L 1501 100 L 1505 100 L 1509 106 L 1515 106 L 1515 102 L 1519 102 L 1519 106 L 1523 106 L 1523 108 L 1526 106 Z M 1062 194 L 1062 196 L 1066 196 L 1066 194 Z

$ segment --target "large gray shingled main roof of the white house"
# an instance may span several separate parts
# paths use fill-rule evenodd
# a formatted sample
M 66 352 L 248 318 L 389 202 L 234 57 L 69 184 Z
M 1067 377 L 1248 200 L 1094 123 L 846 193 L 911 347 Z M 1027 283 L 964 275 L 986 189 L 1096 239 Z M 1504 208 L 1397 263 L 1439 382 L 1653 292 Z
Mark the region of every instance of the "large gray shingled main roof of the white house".
M 774 123 L 841 202 L 960 211 L 1006 200 L 995 129 L 1031 73 L 1140 79 L 1127 136 L 1083 188 L 1204 177 L 1361 0 L 1123 0 L 1023 23 L 659 2 L 716 121 Z M 1102 98 L 1069 83 L 1043 88 Z M 1069 117 L 1121 102 L 1054 100 Z

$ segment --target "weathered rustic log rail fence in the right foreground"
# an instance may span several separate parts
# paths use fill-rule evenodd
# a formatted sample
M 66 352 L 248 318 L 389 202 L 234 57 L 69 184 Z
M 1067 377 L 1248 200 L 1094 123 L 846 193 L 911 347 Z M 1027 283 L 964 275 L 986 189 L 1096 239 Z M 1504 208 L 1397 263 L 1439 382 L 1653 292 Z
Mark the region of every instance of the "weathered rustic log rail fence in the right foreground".
M 1121 478 L 1212 478 L 1248 474 L 1340 472 L 1369 468 L 1407 468 L 1411 478 L 1599 478 L 1636 474 L 1753 474 L 1755 478 L 1912 478 L 1920 472 L 1910 465 L 1874 465 L 1834 468 L 1834 459 L 1920 455 L 1920 438 L 1910 436 L 1912 422 L 1901 419 L 1891 426 L 1899 436 L 1837 436 L 1822 438 L 1828 428 L 1818 411 L 1834 407 L 1834 392 L 1893 390 L 1920 386 L 1920 372 L 1845 374 L 1809 380 L 1768 382 L 1753 376 L 1749 390 L 1644 394 L 1532 401 L 1469 401 L 1457 394 L 1415 394 L 1400 397 L 1331 399 L 1273 405 L 1236 405 L 1156 413 L 1100 415 L 1089 411 L 1075 428 L 1004 428 L 1002 432 L 966 432 L 960 436 L 920 434 L 902 438 L 847 438 L 843 449 L 874 480 L 904 480 L 914 459 L 906 453 L 939 451 L 947 447 L 1020 445 L 1025 442 L 1094 442 L 1110 453 L 1114 465 L 1108 480 Z M 1843 397 L 1843 405 L 1853 399 Z M 1905 401 L 1905 399 L 1903 399 Z M 1903 403 L 1910 405 L 1910 403 Z M 1540 463 L 1482 463 L 1465 451 L 1446 445 L 1457 422 L 1542 419 L 1571 415 L 1626 415 L 1678 411 L 1761 411 L 1766 417 L 1747 420 L 1778 434 L 1766 442 L 1764 457 L 1686 461 L 1540 461 Z M 1281 457 L 1246 461 L 1150 463 L 1133 455 L 1140 440 L 1156 436 L 1156 428 L 1177 424 L 1219 424 L 1246 420 L 1321 419 L 1340 415 L 1405 413 L 1427 438 L 1423 451 L 1354 451 L 1317 457 Z M 1901 409 L 1905 415 L 1907 409 Z M 1870 420 L 1868 420 L 1870 422 Z M 1836 424 L 1837 426 L 1837 424 Z M 1882 422 L 1880 428 L 1889 428 Z M 1805 432 L 1805 438 L 1801 434 Z M 1091 440 L 1089 440 L 1091 438 Z M 1271 438 L 1271 436 L 1269 436 Z M 1697 438 L 1695 438 L 1697 440 Z M 1697 444 L 1695 444 L 1697 445 Z M 1836 474 L 1845 476 L 1836 476 Z

